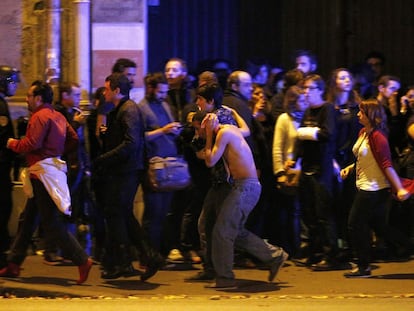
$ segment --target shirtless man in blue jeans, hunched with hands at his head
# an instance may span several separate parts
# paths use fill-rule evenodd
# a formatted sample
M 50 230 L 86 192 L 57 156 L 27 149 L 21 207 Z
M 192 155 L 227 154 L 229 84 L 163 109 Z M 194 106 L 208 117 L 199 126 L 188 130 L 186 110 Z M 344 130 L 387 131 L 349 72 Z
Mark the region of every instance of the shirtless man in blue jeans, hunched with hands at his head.
M 232 189 L 219 207 L 213 228 L 212 261 L 216 282 L 208 287 L 236 287 L 233 273 L 234 247 L 244 249 L 268 264 L 268 281 L 272 282 L 288 254 L 281 248 L 270 246 L 244 227 L 261 192 L 250 147 L 240 129 L 234 125 L 219 124 L 215 114 L 197 112 L 193 126 L 200 136 L 206 138 L 206 147 L 202 151 L 206 165 L 212 167 L 223 158 L 232 179 Z

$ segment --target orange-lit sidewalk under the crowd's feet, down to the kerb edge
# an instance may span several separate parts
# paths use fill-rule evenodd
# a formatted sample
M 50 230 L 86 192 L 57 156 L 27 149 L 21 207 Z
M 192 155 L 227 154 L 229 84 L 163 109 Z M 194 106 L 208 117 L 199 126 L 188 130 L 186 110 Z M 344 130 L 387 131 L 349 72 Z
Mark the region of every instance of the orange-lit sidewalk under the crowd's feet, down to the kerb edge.
M 238 288 L 216 291 L 204 288 L 206 283 L 185 282 L 198 272 L 193 270 L 159 271 L 147 282 L 139 277 L 102 280 L 99 266 L 93 266 L 84 285 L 76 285 L 76 266 L 48 266 L 42 257 L 28 256 L 19 278 L 0 278 L 0 296 L 17 297 L 90 297 L 90 298 L 148 298 L 182 299 L 236 296 L 245 298 L 293 297 L 406 297 L 414 298 L 414 260 L 378 263 L 368 279 L 346 279 L 344 271 L 313 272 L 288 261 L 276 282 L 268 283 L 266 270 L 235 270 Z M 414 300 L 413 300 L 414 301 Z

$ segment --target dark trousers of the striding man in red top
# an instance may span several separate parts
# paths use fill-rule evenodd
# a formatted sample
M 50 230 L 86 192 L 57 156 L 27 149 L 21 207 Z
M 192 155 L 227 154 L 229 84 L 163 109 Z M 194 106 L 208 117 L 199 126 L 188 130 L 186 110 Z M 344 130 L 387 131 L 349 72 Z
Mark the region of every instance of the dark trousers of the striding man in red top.
M 19 218 L 16 238 L 11 247 L 8 261 L 21 265 L 26 258 L 32 235 L 42 219 L 44 234 L 48 236 L 77 266 L 88 259 L 78 241 L 66 230 L 56 204 L 38 179 L 31 179 L 34 197 L 28 199 Z

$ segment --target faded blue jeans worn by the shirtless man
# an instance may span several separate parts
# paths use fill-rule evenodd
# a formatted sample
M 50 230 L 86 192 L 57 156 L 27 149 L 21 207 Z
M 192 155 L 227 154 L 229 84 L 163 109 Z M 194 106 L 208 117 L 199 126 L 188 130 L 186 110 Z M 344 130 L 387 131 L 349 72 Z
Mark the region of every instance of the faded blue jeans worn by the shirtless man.
M 212 234 L 212 260 L 217 279 L 234 278 L 234 247 L 245 250 L 264 263 L 273 259 L 268 245 L 244 227 L 260 192 L 261 185 L 257 179 L 235 180 L 220 206 Z

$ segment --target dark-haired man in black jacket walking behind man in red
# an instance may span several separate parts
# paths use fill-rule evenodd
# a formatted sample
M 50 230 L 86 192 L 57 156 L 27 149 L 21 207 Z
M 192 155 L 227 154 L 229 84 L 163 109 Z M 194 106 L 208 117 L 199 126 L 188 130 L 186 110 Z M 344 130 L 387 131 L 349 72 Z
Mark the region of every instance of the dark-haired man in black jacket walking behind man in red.
M 162 265 L 161 256 L 150 247 L 134 217 L 134 197 L 144 174 L 144 127 L 138 107 L 129 99 L 130 83 L 121 73 L 105 80 L 105 100 L 115 108 L 108 114 L 103 133 L 103 153 L 94 161 L 98 174 L 105 176 L 104 217 L 106 256 L 102 277 L 115 279 L 134 275 L 128 253 L 129 241 L 146 256 L 145 281 Z

